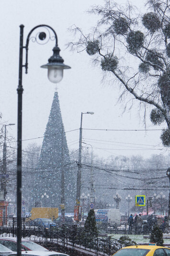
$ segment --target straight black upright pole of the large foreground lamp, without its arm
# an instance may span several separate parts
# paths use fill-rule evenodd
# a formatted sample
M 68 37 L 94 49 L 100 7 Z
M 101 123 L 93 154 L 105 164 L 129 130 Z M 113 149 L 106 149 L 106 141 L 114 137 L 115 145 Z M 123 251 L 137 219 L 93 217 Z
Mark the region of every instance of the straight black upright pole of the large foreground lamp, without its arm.
M 21 200 L 22 200 L 22 96 L 23 96 L 23 25 L 20 26 L 19 84 L 18 93 L 18 134 L 17 134 L 17 256 L 21 256 Z

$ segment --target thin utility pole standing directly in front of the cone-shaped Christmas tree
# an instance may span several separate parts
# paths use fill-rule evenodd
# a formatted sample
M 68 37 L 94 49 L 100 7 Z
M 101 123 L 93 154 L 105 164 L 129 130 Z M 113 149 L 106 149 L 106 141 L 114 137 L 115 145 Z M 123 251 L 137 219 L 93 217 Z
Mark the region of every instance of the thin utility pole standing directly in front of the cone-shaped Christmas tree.
M 65 195 L 64 195 L 64 148 L 63 148 L 63 136 L 64 136 L 64 127 L 62 124 L 62 132 L 61 132 L 61 218 L 62 222 L 65 222 Z

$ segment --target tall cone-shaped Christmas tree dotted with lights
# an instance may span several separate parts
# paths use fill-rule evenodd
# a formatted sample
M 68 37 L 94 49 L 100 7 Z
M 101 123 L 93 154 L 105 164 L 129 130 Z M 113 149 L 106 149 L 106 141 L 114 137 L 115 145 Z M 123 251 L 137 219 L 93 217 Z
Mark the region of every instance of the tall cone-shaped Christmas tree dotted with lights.
M 58 94 L 55 92 L 44 134 L 39 166 L 35 172 L 33 189 L 34 206 L 42 205 L 45 207 L 59 208 L 59 205 L 61 205 L 62 159 L 65 171 L 65 208 L 66 212 L 73 212 L 76 177 L 70 166 L 68 145 L 62 122 Z M 44 193 L 49 198 L 46 198 L 46 196 L 42 198 Z

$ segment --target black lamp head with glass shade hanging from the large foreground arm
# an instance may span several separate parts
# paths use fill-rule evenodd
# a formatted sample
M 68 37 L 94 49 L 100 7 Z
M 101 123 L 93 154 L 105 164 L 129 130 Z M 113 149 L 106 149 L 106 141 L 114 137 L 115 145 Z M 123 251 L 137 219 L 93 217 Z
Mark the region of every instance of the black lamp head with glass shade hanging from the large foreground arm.
M 52 83 L 59 83 L 63 78 L 63 70 L 71 68 L 64 64 L 63 58 L 59 55 L 59 47 L 53 48 L 53 56 L 48 59 L 48 63 L 42 65 L 42 68 L 48 69 L 48 79 Z

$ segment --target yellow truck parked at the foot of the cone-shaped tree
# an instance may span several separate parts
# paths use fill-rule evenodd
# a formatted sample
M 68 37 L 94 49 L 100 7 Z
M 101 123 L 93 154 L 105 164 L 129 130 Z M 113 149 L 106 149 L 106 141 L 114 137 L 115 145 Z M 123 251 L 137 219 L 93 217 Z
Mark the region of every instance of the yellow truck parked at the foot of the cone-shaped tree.
M 58 208 L 52 207 L 35 207 L 32 208 L 29 219 L 34 220 L 35 218 L 50 218 L 54 220 L 58 218 Z

